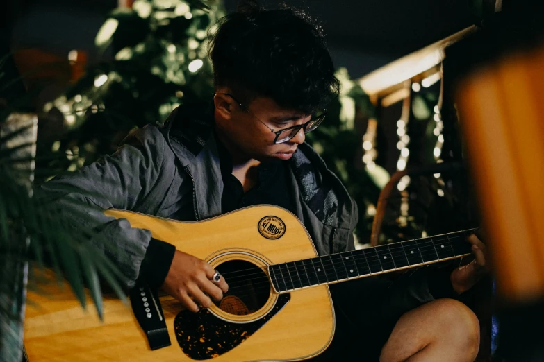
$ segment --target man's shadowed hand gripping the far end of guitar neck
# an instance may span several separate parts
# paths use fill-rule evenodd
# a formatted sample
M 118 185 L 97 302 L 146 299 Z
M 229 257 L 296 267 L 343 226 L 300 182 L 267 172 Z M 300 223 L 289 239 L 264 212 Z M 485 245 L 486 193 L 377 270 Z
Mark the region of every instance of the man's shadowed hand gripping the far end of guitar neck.
M 467 241 L 472 244 L 474 260 L 455 268 L 450 276 L 454 291 L 459 294 L 472 288 L 490 269 L 486 245 L 475 234 L 468 236 Z

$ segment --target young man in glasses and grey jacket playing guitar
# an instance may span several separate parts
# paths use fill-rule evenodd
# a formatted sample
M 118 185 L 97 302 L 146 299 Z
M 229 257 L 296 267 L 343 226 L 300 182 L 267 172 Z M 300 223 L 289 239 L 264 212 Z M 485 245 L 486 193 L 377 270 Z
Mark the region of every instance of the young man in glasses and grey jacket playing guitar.
M 297 10 L 247 6 L 220 21 L 209 54 L 213 104 L 183 105 L 162 128 L 136 130 L 114 155 L 42 187 L 59 208 L 83 205 L 86 217 L 74 223 L 110 241 L 97 246 L 116 261 L 126 286 L 136 279 L 162 286 L 192 311 L 220 300 L 229 281 L 102 209 L 195 221 L 274 204 L 304 223 L 320 255 L 354 249 L 358 220 L 354 200 L 304 143 L 339 90 L 313 20 Z M 456 300 L 436 299 L 465 291 L 481 276 L 485 246 L 475 236 L 468 241 L 476 245 L 476 262 L 451 276 L 422 268 L 395 282 L 365 278 L 333 287 L 336 336 L 315 360 L 475 359 L 477 318 Z

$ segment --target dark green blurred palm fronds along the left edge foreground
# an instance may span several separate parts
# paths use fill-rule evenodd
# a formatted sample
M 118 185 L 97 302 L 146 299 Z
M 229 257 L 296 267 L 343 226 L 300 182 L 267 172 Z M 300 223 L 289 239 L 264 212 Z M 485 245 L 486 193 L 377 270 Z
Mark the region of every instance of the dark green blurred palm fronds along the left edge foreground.
M 124 299 L 124 292 L 115 265 L 90 244 L 92 230 L 67 227 L 33 198 L 35 175 L 51 171 L 34 168 L 42 156 L 33 153 L 35 121 L 28 121 L 35 120 L 35 114 L 26 113 L 33 92 L 13 102 L 3 97 L 20 83 L 20 78 L 8 76 L 9 60 L 9 55 L 0 60 L 0 360 L 19 362 L 26 288 L 44 282 L 40 274 L 45 266 L 56 272 L 59 283 L 67 279 L 83 307 L 83 286 L 88 286 L 99 316 L 103 313 L 99 275 L 119 298 Z

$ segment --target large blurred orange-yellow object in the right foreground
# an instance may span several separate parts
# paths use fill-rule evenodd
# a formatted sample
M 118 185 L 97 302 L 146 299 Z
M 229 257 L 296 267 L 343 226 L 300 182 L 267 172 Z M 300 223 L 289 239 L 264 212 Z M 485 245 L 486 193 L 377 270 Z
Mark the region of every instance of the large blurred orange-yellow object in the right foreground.
M 507 302 L 544 295 L 544 49 L 460 83 L 456 101 L 497 276 Z

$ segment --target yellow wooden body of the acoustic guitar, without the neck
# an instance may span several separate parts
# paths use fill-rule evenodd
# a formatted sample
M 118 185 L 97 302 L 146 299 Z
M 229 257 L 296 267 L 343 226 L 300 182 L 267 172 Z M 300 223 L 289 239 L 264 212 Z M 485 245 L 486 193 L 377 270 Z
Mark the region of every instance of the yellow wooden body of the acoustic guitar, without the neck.
M 28 293 L 35 304 L 27 307 L 24 330 L 30 362 L 298 361 L 331 343 L 334 311 L 327 286 L 278 294 L 270 284 L 268 265 L 317 256 L 302 223 L 285 209 L 247 207 L 197 222 L 116 209 L 106 214 L 208 261 L 226 278 L 229 293 L 199 313 L 160 297 L 172 345 L 151 351 L 130 306 L 105 295 L 100 322 L 92 309 L 81 309 L 69 287 L 50 284 L 46 293 Z M 257 279 L 241 282 L 244 275 Z

